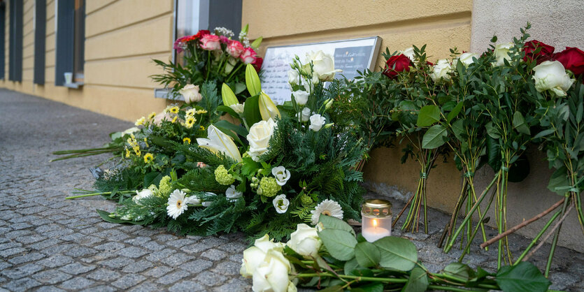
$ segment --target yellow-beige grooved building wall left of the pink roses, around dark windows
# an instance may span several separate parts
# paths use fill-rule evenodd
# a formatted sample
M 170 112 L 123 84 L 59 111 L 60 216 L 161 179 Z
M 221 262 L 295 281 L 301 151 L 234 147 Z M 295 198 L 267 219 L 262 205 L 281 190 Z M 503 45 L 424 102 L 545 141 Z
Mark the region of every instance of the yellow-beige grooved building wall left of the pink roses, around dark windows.
M 23 1 L 22 82 L 8 80 L 10 26 L 6 17 L 6 78 L 0 80 L 0 87 L 128 121 L 166 106 L 164 99 L 154 97 L 153 89 L 159 86 L 148 76 L 161 72 L 152 59 L 171 57 L 173 0 L 86 0 L 85 85 L 79 89 L 55 86 L 58 0 L 47 1 L 45 84 L 33 83 L 35 1 Z

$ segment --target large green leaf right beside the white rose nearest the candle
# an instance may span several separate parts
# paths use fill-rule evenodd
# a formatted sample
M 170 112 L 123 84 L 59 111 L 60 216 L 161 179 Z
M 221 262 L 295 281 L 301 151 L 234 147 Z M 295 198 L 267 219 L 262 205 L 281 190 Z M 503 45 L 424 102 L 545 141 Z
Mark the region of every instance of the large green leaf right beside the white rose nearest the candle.
M 318 232 L 318 237 L 329 254 L 339 261 L 348 261 L 355 256 L 357 240 L 351 233 L 339 229 L 324 229 Z

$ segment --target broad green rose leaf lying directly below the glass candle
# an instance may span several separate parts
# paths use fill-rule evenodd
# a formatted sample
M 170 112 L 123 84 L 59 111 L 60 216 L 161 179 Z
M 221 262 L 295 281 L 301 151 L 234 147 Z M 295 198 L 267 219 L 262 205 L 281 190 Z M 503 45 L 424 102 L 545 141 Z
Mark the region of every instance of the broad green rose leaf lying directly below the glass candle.
M 408 271 L 418 261 L 418 249 L 404 238 L 387 237 L 373 242 L 381 251 L 380 265 L 383 268 Z

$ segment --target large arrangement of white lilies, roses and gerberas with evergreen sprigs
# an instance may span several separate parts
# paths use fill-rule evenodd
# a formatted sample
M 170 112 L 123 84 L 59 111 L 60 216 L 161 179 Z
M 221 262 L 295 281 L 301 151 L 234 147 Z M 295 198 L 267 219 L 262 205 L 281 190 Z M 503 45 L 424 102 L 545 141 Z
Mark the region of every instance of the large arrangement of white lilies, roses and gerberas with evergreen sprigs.
M 333 100 L 323 82 L 336 71 L 321 70 L 322 62 L 332 64 L 332 57 L 317 52 L 304 64 L 294 59 L 292 101 L 279 106 L 262 91 L 249 64 L 245 83 L 251 96 L 239 103 L 223 84 L 224 105 L 218 108 L 241 125 L 211 124 L 198 145 L 161 142 L 199 167 L 183 175 L 171 171 L 101 216 L 182 234 L 245 231 L 273 238 L 287 238 L 302 222 L 316 224 L 320 214 L 358 220 L 362 173 L 354 166 L 364 147 L 327 122 Z

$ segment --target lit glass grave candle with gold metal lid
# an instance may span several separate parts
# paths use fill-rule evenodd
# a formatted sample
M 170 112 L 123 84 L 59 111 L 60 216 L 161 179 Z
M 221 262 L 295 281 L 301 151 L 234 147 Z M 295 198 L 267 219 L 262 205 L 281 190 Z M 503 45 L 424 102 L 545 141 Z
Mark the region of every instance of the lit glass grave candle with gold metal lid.
M 392 235 L 392 203 L 388 200 L 365 200 L 361 216 L 361 232 L 368 242 Z

